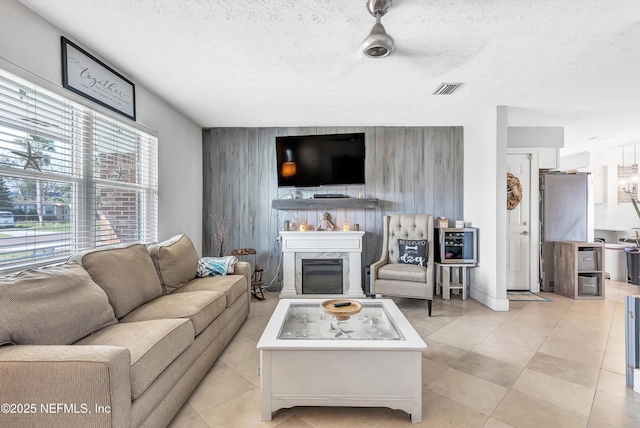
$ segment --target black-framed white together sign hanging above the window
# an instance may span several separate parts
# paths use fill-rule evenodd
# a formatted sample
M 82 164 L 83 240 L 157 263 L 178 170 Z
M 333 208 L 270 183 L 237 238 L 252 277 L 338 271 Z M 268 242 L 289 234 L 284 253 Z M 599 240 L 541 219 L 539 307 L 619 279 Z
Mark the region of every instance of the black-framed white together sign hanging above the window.
M 136 120 L 135 85 L 65 37 L 62 37 L 62 86 Z

